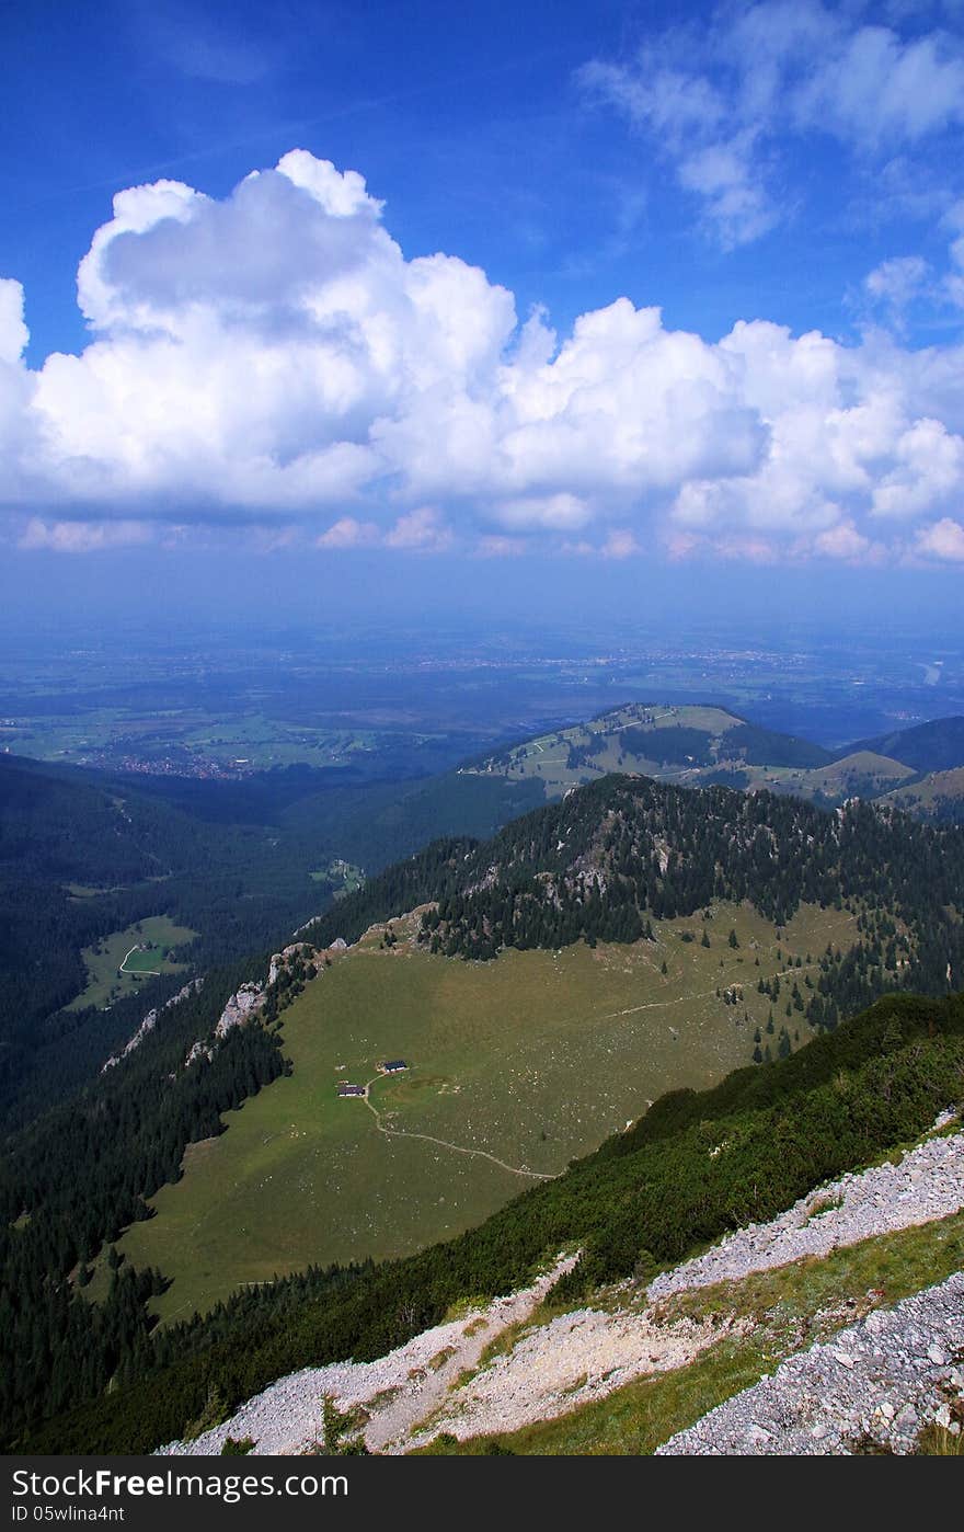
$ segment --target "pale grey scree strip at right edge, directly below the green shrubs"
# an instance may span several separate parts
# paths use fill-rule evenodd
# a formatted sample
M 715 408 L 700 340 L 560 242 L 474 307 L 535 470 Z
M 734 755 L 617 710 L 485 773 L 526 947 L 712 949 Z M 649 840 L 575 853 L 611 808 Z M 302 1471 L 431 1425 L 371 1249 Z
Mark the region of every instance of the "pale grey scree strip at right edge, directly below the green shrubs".
M 952 1120 L 952 1114 L 941 1114 L 935 1126 Z M 946 1218 L 962 1206 L 964 1134 L 930 1138 L 910 1149 L 900 1164 L 844 1175 L 809 1192 L 771 1223 L 726 1235 L 705 1255 L 654 1278 L 647 1298 L 656 1302 L 670 1293 L 786 1265 L 805 1255 L 829 1255 L 871 1235 Z

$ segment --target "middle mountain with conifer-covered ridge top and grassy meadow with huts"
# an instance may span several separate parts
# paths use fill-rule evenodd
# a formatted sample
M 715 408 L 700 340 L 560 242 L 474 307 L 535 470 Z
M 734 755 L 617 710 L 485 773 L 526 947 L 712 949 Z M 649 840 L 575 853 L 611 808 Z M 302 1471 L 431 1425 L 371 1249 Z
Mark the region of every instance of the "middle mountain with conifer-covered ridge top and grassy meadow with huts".
M 884 990 L 946 993 L 962 896 L 961 830 L 645 778 L 440 843 L 302 933 L 354 945 L 287 1013 L 293 1077 L 189 1154 L 121 1249 L 173 1278 L 166 1319 L 279 1267 L 405 1255 L 671 1083 L 789 1052 Z

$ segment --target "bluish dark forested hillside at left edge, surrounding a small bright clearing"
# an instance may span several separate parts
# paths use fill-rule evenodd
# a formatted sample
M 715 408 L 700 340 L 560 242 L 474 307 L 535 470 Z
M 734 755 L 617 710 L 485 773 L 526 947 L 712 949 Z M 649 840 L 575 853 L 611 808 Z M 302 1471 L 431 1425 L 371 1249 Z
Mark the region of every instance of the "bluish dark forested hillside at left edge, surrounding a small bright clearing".
M 109 1010 L 63 1010 L 81 950 L 149 915 L 199 936 L 192 971 L 264 950 L 319 908 L 311 853 L 257 826 L 204 823 L 124 783 L 0 757 L 0 1111 L 8 1121 L 97 1072 L 182 979 Z M 12 1115 L 9 1115 L 12 1112 Z

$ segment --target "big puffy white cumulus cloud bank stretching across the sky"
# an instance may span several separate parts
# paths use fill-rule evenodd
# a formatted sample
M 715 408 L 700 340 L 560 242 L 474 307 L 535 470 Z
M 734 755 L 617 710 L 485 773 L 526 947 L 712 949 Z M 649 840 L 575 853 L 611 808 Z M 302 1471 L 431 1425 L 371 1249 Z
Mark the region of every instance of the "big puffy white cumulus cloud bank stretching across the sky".
M 707 340 L 625 297 L 558 336 L 457 256 L 406 259 L 382 211 L 305 150 L 224 201 L 121 192 L 78 271 L 90 342 L 38 369 L 0 282 L 8 536 L 296 524 L 330 553 L 961 559 L 961 348 L 763 319 Z

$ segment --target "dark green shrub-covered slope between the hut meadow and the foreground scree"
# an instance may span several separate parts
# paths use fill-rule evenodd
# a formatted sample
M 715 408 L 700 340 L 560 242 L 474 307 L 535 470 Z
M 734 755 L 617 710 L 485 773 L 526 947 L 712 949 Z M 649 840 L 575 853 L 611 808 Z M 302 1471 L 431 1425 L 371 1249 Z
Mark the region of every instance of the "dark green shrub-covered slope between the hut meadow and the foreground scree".
M 109 1394 L 26 1432 L 46 1452 L 143 1452 L 305 1365 L 385 1354 L 451 1304 L 506 1293 L 564 1246 L 558 1295 L 661 1265 L 791 1206 L 823 1178 L 921 1134 L 961 1094 L 964 1003 L 881 1000 L 791 1059 L 717 1089 L 664 1097 L 631 1132 L 448 1244 L 379 1267 L 310 1270 L 245 1288 L 166 1330 Z M 710 1154 L 725 1144 L 726 1152 Z

